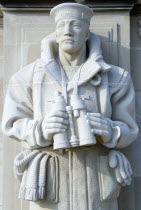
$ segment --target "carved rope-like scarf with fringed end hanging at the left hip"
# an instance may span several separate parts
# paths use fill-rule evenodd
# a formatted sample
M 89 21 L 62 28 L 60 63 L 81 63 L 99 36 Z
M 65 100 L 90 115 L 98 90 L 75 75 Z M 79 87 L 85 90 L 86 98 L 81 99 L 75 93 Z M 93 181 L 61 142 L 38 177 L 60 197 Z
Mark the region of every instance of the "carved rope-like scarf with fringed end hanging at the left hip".
M 50 166 L 50 161 L 53 161 L 53 166 Z M 52 162 L 52 161 L 51 161 Z M 19 190 L 19 198 L 22 200 L 36 201 L 39 199 L 50 198 L 50 193 L 54 194 L 52 197 L 53 202 L 57 202 L 56 193 L 58 191 L 58 172 L 52 174 L 50 179 L 53 180 L 50 192 L 47 190 L 47 178 L 52 171 L 52 167 L 58 170 L 57 157 L 52 157 L 39 150 L 22 151 L 14 160 L 14 172 L 16 177 L 21 180 Z M 56 176 L 57 175 L 57 176 Z M 55 191 L 54 191 L 55 185 Z

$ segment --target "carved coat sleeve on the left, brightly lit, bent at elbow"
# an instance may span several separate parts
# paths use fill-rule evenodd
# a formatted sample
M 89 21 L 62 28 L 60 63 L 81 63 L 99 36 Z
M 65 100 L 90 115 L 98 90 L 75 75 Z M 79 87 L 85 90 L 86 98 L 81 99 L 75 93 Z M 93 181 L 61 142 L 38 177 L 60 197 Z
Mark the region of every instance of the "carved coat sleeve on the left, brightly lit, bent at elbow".
M 31 148 L 45 147 L 52 141 L 43 139 L 41 123 L 42 120 L 33 119 L 32 85 L 16 73 L 7 89 L 2 131 L 11 138 L 26 141 Z

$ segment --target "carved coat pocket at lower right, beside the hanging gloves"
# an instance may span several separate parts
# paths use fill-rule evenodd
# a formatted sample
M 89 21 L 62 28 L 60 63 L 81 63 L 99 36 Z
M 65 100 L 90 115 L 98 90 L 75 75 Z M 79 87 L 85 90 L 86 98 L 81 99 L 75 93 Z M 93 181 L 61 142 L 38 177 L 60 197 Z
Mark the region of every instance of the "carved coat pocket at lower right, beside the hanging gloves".
M 121 185 L 116 181 L 114 171 L 109 166 L 107 155 L 98 157 L 98 178 L 101 201 L 117 199 Z

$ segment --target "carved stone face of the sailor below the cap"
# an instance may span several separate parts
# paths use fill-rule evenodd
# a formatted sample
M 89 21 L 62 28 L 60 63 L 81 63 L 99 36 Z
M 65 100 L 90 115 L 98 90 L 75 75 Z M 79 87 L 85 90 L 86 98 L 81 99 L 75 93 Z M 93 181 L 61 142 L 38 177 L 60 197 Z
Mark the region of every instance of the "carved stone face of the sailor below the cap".
M 66 53 L 80 51 L 89 37 L 89 24 L 76 19 L 60 20 L 56 25 L 56 42 Z

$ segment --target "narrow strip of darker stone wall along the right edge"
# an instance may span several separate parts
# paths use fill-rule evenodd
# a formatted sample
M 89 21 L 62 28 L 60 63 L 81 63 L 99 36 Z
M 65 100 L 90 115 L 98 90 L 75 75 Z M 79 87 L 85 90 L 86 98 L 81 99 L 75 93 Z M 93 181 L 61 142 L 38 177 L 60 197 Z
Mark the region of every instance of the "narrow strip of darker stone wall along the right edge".
M 141 4 L 141 1 L 138 1 Z M 135 210 L 141 209 L 141 9 L 140 5 L 131 13 L 131 75 L 136 93 L 136 119 L 139 136 L 133 144 Z

